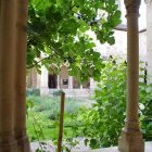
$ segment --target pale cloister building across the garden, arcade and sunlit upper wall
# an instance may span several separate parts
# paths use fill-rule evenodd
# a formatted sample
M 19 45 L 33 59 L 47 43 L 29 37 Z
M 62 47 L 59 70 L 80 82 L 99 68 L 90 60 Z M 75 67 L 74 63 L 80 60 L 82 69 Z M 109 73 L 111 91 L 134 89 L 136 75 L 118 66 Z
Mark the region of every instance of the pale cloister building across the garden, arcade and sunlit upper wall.
M 96 41 L 97 51 L 101 52 L 104 60 L 110 56 L 122 58 L 127 60 L 127 26 L 119 25 L 115 29 L 115 45 L 100 45 Z M 139 59 L 144 62 L 142 66 L 145 66 L 147 59 L 147 28 L 139 30 Z M 55 66 L 55 65 L 54 65 Z M 66 65 L 61 66 L 59 74 L 54 74 L 45 66 L 41 67 L 41 74 L 37 74 L 35 68 L 31 68 L 27 73 L 27 88 L 40 89 L 40 94 L 52 94 L 54 91 L 63 89 L 67 97 L 89 97 L 93 93 L 97 83 L 90 78 L 84 85 L 81 85 L 76 77 L 68 75 Z

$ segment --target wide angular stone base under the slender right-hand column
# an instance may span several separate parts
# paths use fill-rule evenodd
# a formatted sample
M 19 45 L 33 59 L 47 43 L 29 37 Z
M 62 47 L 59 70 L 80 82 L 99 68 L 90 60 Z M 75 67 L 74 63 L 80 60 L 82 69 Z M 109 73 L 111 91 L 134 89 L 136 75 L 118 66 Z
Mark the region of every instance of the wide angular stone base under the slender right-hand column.
M 128 131 L 123 129 L 118 140 L 118 150 L 121 152 L 144 152 L 144 140 L 140 131 Z

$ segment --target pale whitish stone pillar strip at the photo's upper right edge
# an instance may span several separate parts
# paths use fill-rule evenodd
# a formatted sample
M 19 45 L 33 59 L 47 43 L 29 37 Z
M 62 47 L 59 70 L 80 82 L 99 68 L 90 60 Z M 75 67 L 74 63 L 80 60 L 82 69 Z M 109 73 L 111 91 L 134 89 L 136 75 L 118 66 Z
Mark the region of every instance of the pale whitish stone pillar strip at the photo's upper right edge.
M 147 2 L 147 58 L 148 58 L 148 83 L 152 84 L 152 1 Z

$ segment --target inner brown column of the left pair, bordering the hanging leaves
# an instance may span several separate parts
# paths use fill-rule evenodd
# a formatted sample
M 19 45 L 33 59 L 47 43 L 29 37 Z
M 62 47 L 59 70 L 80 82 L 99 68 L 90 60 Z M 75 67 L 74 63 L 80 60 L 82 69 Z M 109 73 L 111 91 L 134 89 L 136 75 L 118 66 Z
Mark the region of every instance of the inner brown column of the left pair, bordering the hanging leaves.
M 26 134 L 26 23 L 27 0 L 17 1 L 16 17 L 16 75 L 15 75 L 15 138 L 17 152 L 29 152 L 29 143 Z

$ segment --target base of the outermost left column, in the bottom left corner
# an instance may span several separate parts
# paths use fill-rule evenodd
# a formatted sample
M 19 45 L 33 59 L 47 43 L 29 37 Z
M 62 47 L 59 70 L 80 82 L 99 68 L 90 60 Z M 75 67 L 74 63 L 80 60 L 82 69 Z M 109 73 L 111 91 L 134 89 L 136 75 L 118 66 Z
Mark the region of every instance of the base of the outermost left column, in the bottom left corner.
M 0 152 L 17 152 L 17 142 L 15 140 L 0 142 Z

